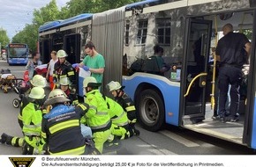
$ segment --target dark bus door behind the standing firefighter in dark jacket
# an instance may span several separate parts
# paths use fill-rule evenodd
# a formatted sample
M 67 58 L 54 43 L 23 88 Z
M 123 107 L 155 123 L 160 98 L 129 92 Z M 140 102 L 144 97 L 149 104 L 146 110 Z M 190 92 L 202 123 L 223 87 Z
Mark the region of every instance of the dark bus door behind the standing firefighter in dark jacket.
M 69 55 L 67 61 L 70 63 L 80 62 L 80 34 L 70 34 L 64 36 L 64 50 Z

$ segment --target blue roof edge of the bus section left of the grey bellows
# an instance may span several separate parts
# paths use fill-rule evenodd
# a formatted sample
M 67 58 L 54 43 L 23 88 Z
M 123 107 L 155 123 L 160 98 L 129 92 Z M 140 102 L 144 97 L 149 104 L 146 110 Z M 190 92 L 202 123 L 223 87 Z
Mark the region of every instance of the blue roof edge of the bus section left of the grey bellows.
M 78 22 L 83 19 L 89 19 L 93 16 L 91 13 L 83 13 L 78 16 L 67 18 L 64 20 L 51 21 L 39 27 L 39 32 L 44 32 L 53 28 L 57 28 L 64 25 L 71 25 L 72 23 Z

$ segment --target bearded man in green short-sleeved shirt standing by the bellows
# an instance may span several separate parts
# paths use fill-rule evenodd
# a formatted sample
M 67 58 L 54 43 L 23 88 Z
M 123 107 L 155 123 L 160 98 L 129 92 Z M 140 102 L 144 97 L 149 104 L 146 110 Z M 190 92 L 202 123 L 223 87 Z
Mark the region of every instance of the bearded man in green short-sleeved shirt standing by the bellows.
M 85 46 L 85 53 L 87 56 L 83 62 L 75 63 L 72 65 L 73 68 L 83 68 L 86 71 L 90 71 L 92 76 L 96 79 L 97 83 L 102 83 L 103 72 L 105 68 L 105 60 L 102 54 L 99 54 L 95 50 L 94 43 L 89 41 Z

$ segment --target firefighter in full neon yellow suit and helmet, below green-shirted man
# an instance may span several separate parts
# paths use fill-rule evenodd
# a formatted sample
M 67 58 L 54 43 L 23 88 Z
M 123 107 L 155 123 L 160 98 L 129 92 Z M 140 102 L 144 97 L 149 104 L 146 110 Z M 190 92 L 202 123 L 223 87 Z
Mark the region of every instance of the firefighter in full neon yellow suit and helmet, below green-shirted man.
M 93 76 L 89 76 L 84 80 L 83 86 L 87 91 L 85 103 L 90 105 L 90 109 L 81 122 L 87 123 L 87 126 L 91 127 L 95 148 L 102 153 L 103 144 L 111 135 L 111 120 L 109 118 L 108 105 L 102 97 L 102 93 L 98 90 L 100 85 Z M 84 108 L 82 104 L 78 106 L 81 109 Z

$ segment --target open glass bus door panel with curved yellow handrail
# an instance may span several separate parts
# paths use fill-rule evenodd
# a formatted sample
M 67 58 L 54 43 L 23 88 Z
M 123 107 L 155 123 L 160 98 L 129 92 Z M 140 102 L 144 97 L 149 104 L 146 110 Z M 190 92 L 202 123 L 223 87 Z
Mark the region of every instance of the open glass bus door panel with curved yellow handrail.
M 192 123 L 205 119 L 211 31 L 211 20 L 186 20 L 181 111 L 183 119 Z

